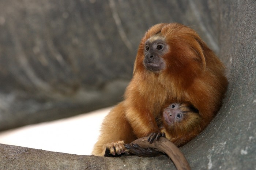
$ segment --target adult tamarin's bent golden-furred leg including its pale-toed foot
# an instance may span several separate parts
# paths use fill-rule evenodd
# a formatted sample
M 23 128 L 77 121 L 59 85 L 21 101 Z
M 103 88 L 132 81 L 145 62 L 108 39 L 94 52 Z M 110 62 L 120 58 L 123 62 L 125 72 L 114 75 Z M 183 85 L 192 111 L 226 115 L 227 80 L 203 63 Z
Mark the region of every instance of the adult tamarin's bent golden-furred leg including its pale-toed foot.
M 123 103 L 119 103 L 105 117 L 92 154 L 104 156 L 106 149 L 111 155 L 122 154 L 125 151 L 124 143 L 130 143 L 136 139 L 124 113 Z

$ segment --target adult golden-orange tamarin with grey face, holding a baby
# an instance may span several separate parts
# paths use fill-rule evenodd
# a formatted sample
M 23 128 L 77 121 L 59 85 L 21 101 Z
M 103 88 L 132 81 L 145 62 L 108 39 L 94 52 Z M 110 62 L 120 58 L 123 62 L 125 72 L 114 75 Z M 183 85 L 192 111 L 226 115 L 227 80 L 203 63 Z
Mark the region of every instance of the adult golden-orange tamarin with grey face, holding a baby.
M 166 103 L 193 104 L 202 131 L 221 106 L 227 87 L 224 70 L 193 29 L 177 23 L 154 25 L 140 41 L 124 101 L 103 120 L 92 154 L 103 156 L 105 149 L 121 154 L 124 143 L 161 133 L 155 118 Z

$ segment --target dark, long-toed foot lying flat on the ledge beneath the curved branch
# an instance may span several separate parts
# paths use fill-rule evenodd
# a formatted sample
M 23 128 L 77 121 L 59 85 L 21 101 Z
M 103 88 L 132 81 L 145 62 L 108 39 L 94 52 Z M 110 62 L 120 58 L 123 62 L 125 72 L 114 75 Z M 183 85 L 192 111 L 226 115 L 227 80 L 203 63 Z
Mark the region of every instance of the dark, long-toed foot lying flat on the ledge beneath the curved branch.
M 129 155 L 137 155 L 139 157 L 155 157 L 161 155 L 162 153 L 153 148 L 142 148 L 138 144 L 125 144 Z

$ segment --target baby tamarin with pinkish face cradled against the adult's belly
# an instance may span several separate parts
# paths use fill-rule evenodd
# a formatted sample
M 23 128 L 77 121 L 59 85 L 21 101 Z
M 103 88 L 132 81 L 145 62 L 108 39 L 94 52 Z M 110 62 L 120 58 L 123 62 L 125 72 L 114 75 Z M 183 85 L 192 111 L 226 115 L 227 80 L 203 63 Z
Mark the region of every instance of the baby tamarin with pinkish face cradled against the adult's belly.
M 200 132 L 202 117 L 191 103 L 171 103 L 159 116 L 159 129 L 176 146 L 189 142 Z

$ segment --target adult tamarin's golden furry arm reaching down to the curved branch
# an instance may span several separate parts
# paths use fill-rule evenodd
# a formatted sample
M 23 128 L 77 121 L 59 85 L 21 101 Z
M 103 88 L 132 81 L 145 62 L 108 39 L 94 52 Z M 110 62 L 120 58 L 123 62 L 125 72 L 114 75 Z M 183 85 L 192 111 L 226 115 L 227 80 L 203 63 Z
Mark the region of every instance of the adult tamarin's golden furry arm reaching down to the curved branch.
M 138 77 L 140 77 L 139 74 L 133 76 L 125 92 L 124 105 L 125 118 L 131 125 L 133 133 L 137 138 L 142 138 L 148 137 L 151 133 L 160 133 L 155 120 L 157 115 L 154 115 L 154 112 L 159 114 L 161 104 L 156 106 L 156 103 L 163 103 L 163 99 L 159 99 L 161 95 L 156 89 L 148 90 L 147 82 Z

